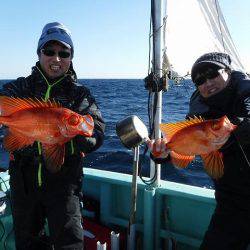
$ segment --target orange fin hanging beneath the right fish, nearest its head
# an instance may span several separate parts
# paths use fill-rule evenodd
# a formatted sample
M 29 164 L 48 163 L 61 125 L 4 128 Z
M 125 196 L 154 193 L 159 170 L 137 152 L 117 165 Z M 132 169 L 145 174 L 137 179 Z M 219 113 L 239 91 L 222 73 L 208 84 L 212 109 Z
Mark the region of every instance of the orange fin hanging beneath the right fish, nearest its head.
M 224 173 L 223 154 L 214 151 L 207 155 L 201 155 L 206 172 L 214 179 L 222 177 Z

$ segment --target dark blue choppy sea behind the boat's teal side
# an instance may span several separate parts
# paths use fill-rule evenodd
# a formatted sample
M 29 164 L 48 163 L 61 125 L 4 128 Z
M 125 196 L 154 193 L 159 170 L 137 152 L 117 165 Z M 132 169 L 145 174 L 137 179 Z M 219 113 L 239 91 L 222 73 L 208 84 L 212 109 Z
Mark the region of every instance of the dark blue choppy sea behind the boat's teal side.
M 2 84 L 9 80 L 0 80 Z M 97 151 L 85 158 L 84 167 L 132 173 L 133 152 L 125 148 L 116 135 L 116 123 L 130 115 L 137 115 L 148 125 L 148 91 L 144 81 L 138 79 L 81 79 L 95 96 L 97 104 L 106 122 L 104 144 Z M 189 97 L 194 86 L 189 81 L 177 85 L 169 84 L 169 90 L 163 93 L 163 122 L 185 119 L 188 111 Z M 8 167 L 8 153 L 2 146 L 3 134 L 0 131 L 0 167 Z M 141 147 L 141 154 L 143 147 Z M 149 156 L 140 156 L 142 174 L 149 175 Z M 185 169 L 178 169 L 171 164 L 163 164 L 161 178 L 164 180 L 213 188 L 212 180 L 204 172 L 199 158 Z

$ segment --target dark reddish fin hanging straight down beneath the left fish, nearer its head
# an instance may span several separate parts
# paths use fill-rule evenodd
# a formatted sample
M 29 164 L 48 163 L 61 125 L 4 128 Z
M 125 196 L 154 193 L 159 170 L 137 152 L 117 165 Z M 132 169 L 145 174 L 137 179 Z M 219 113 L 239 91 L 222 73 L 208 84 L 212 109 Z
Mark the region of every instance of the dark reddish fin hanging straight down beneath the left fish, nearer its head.
M 51 173 L 56 173 L 64 163 L 65 145 L 43 145 L 43 155 L 46 168 Z

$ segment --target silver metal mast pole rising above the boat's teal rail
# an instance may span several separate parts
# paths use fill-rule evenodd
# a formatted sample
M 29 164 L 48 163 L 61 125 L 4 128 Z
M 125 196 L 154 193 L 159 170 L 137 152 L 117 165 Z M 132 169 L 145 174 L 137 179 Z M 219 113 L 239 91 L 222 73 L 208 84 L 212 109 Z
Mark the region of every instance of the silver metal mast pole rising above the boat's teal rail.
M 162 77 L 162 0 L 151 0 L 152 26 L 153 26 L 153 73 L 159 78 Z M 157 95 L 157 96 L 156 96 Z M 154 139 L 161 138 L 159 124 L 162 118 L 162 91 L 154 92 L 151 102 L 151 111 L 154 109 L 154 99 L 157 97 L 156 115 L 154 118 Z M 151 116 L 152 117 L 152 116 Z M 156 170 L 155 186 L 159 185 L 161 179 L 161 165 L 150 162 L 150 177 L 152 178 Z

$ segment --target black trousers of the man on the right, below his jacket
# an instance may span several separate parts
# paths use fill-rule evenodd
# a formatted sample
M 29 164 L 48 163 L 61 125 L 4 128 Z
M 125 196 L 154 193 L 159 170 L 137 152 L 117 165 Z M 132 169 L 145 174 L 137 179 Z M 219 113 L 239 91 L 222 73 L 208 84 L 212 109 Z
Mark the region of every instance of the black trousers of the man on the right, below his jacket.
M 246 250 L 249 243 L 250 212 L 217 206 L 200 250 Z

